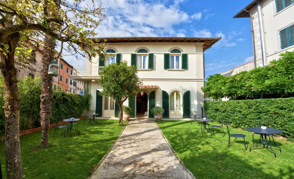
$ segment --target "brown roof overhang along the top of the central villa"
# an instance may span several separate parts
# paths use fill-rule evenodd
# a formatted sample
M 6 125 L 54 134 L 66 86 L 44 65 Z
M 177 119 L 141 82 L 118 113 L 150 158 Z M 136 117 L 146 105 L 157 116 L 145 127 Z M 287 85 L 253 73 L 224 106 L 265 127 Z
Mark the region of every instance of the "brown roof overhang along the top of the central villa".
M 203 51 L 210 48 L 221 37 L 203 38 L 203 37 L 102 37 L 93 38 L 97 43 L 130 43 L 130 42 L 185 42 L 185 43 L 204 43 Z

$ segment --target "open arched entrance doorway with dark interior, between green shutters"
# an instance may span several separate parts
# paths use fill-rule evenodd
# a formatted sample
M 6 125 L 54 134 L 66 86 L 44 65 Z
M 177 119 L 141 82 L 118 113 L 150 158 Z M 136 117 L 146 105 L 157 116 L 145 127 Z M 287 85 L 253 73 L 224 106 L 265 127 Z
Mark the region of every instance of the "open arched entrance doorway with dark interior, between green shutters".
M 148 94 L 142 91 L 136 97 L 136 117 L 144 117 L 145 112 L 148 115 Z

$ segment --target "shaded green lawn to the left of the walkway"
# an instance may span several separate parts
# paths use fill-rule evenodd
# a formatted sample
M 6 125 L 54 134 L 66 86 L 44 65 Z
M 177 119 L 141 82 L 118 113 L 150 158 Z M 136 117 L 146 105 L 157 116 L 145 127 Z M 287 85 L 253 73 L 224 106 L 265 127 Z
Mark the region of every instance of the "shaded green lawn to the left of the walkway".
M 64 138 L 58 133 L 53 138 L 55 128 L 51 128 L 51 146 L 41 150 L 36 150 L 40 146 L 41 132 L 21 136 L 24 178 L 87 178 L 123 129 L 123 126 L 119 126 L 118 120 L 98 121 L 99 124 L 93 126 L 83 126 L 83 120 L 78 121 L 80 134 L 74 133 L 72 137 L 67 135 Z M 2 175 L 6 178 L 4 142 L 0 142 L 0 160 Z

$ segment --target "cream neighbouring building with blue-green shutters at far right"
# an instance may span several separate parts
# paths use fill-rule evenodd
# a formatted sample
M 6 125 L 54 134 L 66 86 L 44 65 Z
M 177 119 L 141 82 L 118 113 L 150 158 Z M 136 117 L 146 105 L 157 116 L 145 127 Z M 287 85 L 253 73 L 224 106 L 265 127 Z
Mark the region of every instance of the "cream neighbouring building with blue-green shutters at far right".
M 244 10 L 245 9 L 245 10 Z M 255 0 L 233 18 L 250 18 L 253 28 L 254 61 L 234 68 L 231 74 L 265 66 L 280 53 L 294 50 L 294 2 L 293 0 Z M 254 64 L 254 62 L 256 62 Z

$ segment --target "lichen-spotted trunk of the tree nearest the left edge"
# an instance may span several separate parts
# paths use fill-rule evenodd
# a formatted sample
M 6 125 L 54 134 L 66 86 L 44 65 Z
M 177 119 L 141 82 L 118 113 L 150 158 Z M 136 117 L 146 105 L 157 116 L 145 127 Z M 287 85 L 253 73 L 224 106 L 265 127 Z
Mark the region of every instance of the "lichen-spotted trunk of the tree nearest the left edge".
M 5 84 L 5 158 L 6 178 L 23 179 L 21 151 L 19 141 L 19 94 L 17 87 L 17 71 L 14 67 L 14 52 L 20 40 L 20 33 L 1 37 L 1 42 L 9 45 L 7 55 L 0 53 L 1 72 Z

